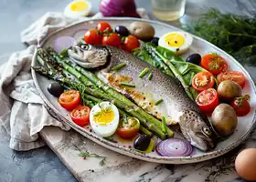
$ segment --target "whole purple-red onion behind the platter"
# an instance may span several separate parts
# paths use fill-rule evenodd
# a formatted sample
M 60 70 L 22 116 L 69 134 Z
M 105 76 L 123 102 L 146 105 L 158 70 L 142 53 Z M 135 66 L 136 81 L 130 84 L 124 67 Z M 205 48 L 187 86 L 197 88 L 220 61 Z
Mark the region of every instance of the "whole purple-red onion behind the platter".
M 136 12 L 134 0 L 101 0 L 100 11 L 104 16 L 141 17 Z

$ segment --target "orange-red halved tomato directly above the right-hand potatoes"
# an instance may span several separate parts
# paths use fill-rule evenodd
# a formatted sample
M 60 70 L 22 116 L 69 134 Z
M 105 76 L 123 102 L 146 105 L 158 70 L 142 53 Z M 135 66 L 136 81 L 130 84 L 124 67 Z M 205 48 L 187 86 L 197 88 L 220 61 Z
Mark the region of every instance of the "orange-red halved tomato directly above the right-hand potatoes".
M 222 82 L 224 80 L 232 80 L 238 83 L 242 88 L 245 85 L 245 76 L 239 71 L 226 71 L 225 73 L 220 73 L 217 76 L 218 82 Z

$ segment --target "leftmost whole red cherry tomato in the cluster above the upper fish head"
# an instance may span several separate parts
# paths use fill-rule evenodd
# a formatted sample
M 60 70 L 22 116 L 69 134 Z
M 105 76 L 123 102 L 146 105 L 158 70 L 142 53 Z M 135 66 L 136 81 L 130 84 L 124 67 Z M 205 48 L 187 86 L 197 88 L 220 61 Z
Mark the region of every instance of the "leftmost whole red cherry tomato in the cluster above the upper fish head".
M 91 44 L 91 45 L 101 45 L 102 44 L 102 36 L 98 30 L 90 29 L 85 33 L 84 41 L 87 44 Z

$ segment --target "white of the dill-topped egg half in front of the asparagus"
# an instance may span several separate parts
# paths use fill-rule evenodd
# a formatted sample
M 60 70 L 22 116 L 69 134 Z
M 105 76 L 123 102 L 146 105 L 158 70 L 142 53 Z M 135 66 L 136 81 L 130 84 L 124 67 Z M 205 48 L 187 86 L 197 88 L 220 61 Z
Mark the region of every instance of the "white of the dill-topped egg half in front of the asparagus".
M 105 108 L 106 106 L 110 107 L 114 113 L 113 119 L 109 124 L 106 124 L 105 126 L 103 125 L 99 125 L 95 119 L 94 119 L 94 115 L 96 113 L 98 113 L 99 111 L 101 111 L 101 107 L 98 105 L 95 105 L 91 108 L 91 113 L 90 113 L 90 124 L 91 124 L 91 128 L 93 129 L 93 131 L 102 137 L 108 137 L 108 136 L 112 136 L 118 125 L 119 125 L 119 111 L 117 109 L 116 106 L 112 105 L 112 103 L 110 102 L 101 102 L 100 103 L 102 108 Z

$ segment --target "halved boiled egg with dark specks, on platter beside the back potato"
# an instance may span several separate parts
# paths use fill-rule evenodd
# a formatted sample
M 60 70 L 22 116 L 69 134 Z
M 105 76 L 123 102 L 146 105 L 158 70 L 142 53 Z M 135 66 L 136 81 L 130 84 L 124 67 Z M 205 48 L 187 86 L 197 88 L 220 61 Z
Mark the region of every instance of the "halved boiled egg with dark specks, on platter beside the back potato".
M 160 37 L 158 45 L 181 55 L 192 45 L 193 37 L 186 32 L 170 32 Z

